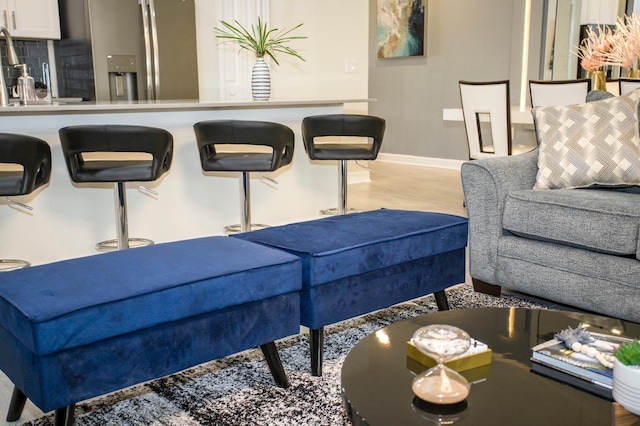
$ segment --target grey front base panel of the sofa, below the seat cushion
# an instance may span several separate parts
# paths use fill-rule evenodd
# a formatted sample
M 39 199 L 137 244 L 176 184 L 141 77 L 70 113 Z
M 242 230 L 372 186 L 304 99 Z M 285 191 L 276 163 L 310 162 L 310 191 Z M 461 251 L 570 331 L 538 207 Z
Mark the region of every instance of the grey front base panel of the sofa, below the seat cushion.
M 505 236 L 497 245 L 496 283 L 556 303 L 640 322 L 640 262 Z

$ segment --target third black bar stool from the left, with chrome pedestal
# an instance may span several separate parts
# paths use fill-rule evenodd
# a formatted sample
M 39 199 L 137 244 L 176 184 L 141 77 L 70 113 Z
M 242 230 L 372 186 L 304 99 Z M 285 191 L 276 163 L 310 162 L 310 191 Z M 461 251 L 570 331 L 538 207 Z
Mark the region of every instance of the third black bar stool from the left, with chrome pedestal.
M 251 223 L 251 172 L 273 172 L 293 159 L 293 131 L 279 123 L 248 120 L 210 120 L 194 124 L 202 170 L 241 172 L 241 222 L 224 228 L 226 233 L 264 228 Z M 236 145 L 233 147 L 233 145 Z M 245 146 L 239 146 L 245 145 Z M 270 148 L 256 152 L 247 145 Z

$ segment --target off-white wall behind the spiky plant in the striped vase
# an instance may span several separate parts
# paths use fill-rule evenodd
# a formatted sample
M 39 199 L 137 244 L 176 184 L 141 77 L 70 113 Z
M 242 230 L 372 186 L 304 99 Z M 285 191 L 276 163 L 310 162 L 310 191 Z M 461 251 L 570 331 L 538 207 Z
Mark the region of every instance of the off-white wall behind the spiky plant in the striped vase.
M 256 7 L 256 1 L 234 0 L 247 7 Z M 220 63 L 225 46 L 219 45 L 213 28 L 219 25 L 219 2 L 196 0 L 196 23 L 198 33 L 198 68 L 200 96 L 205 100 L 219 100 L 223 95 L 224 81 L 220 82 Z M 296 40 L 291 47 L 298 51 L 305 62 L 293 57 L 278 56 L 280 65 L 270 63 L 272 99 L 298 98 L 366 98 L 368 96 L 368 0 L 270 0 L 269 26 L 293 28 L 304 25 L 296 31 L 308 37 Z M 241 20 L 238 17 L 238 20 Z M 252 22 L 242 22 L 251 25 Z M 237 49 L 234 49 L 237 52 Z M 240 55 L 249 55 L 242 52 Z M 355 64 L 357 72 L 346 72 L 346 62 Z M 248 58 L 244 72 L 245 84 L 253 58 Z M 227 70 L 228 71 L 228 70 Z M 243 76 L 240 76 L 242 78 Z M 226 92 L 226 93 L 225 93 Z M 236 98 L 250 96 L 248 86 L 233 91 Z M 356 108 L 366 108 L 356 106 Z

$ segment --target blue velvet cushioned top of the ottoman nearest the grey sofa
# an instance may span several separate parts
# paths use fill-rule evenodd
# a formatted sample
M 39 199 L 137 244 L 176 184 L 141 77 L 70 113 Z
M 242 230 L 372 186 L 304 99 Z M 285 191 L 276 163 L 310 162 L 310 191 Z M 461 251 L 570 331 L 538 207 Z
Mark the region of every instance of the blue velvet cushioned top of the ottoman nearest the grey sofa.
M 302 259 L 303 287 L 466 247 L 467 219 L 380 209 L 234 235 Z

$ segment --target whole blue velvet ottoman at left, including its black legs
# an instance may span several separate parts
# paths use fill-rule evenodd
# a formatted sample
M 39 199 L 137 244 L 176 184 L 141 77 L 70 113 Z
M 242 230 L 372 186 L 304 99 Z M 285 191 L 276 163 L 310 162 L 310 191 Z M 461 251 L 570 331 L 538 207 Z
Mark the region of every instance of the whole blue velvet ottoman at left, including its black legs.
M 300 260 L 211 237 L 0 274 L 0 369 L 56 424 L 74 403 L 260 347 L 288 385 L 274 341 L 299 332 Z

